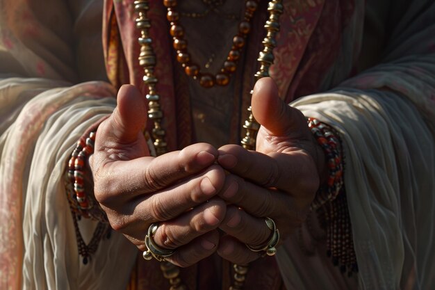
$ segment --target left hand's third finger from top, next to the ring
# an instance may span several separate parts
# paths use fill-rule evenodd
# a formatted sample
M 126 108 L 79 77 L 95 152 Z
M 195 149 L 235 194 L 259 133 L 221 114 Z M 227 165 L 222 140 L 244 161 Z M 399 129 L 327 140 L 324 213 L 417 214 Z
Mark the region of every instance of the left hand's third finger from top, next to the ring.
M 159 223 L 154 242 L 164 249 L 177 249 L 186 245 L 198 236 L 216 229 L 224 220 L 226 209 L 224 201 L 215 198 L 178 218 Z

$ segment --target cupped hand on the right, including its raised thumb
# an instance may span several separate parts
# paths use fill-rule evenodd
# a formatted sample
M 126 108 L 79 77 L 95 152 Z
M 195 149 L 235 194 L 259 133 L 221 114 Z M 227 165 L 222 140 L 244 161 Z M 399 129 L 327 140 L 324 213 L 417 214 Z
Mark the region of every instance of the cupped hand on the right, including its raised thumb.
M 309 213 L 325 172 L 325 156 L 304 115 L 286 105 L 270 78 L 260 79 L 252 95 L 252 113 L 261 124 L 256 151 L 238 145 L 219 149 L 217 161 L 230 172 L 219 194 L 229 205 L 220 229 L 217 252 L 233 263 L 258 259 L 245 244 L 267 245 L 272 234 L 265 217 L 274 220 L 286 239 Z

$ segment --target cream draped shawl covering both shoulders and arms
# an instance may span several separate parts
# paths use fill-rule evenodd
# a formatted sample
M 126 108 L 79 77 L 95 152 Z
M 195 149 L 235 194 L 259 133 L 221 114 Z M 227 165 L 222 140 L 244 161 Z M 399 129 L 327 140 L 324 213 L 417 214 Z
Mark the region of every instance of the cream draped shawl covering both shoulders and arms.
M 0 7 L 0 289 L 124 289 L 136 248 L 114 234 L 83 266 L 63 188 L 74 143 L 115 106 L 107 83 L 72 86 L 104 79 L 102 54 L 84 49 L 99 35 L 85 24 L 101 19 L 101 1 Z M 435 7 L 408 8 L 384 65 L 293 104 L 342 135 L 360 289 L 435 285 Z M 288 289 L 347 288 L 323 252 L 298 250 L 290 239 L 277 255 Z

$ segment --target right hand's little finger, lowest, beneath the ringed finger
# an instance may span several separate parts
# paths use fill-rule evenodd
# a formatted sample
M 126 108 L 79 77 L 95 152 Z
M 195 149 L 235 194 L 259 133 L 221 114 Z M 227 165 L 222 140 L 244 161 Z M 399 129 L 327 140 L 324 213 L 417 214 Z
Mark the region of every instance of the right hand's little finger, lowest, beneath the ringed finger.
M 245 265 L 261 257 L 261 252 L 252 252 L 233 236 L 224 235 L 219 240 L 217 254 L 231 263 Z

